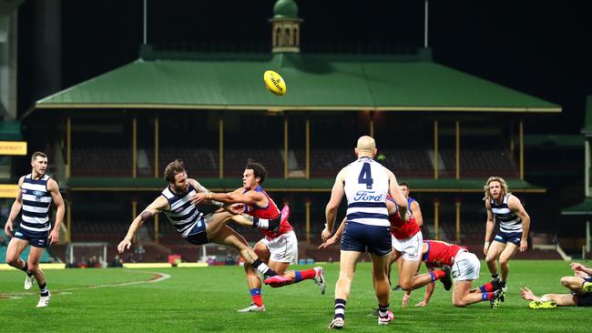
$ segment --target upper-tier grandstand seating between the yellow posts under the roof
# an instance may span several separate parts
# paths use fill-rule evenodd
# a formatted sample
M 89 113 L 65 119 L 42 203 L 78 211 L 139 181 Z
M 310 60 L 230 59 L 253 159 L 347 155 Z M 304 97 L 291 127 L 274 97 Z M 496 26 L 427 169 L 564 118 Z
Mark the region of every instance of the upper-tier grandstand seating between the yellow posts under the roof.
M 434 164 L 429 150 L 424 147 L 384 147 L 380 159 L 399 177 L 432 177 Z M 241 177 L 242 170 L 249 159 L 260 162 L 267 168 L 268 177 L 283 177 L 283 150 L 273 148 L 229 148 L 224 151 L 224 174 L 227 177 Z M 289 171 L 291 177 L 305 177 L 306 153 L 303 149 L 289 152 Z M 439 151 L 443 166 L 441 177 L 454 177 L 455 150 L 442 148 Z M 131 148 L 125 147 L 84 147 L 72 151 L 72 175 L 74 177 L 130 177 L 132 166 Z M 141 158 L 140 158 L 141 157 Z M 218 177 L 218 149 L 190 146 L 161 146 L 158 159 L 158 173 L 165 166 L 181 158 L 193 177 Z M 311 150 L 311 177 L 335 177 L 337 172 L 355 158 L 353 153 L 342 148 L 316 148 Z M 496 146 L 463 146 L 460 155 L 461 177 L 517 177 L 518 170 L 509 152 Z M 138 176 L 153 177 L 154 151 L 138 149 Z

